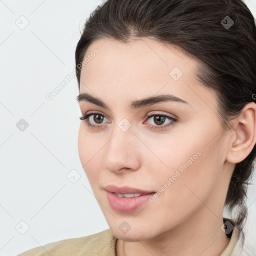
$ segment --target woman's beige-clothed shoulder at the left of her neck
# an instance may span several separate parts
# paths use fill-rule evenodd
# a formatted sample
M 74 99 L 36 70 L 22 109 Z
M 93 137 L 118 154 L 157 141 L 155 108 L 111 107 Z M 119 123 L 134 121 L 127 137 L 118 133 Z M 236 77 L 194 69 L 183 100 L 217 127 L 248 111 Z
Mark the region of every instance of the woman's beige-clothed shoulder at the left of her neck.
M 117 238 L 110 228 L 88 236 L 69 238 L 47 243 L 18 254 L 18 256 L 60 255 L 113 255 Z

